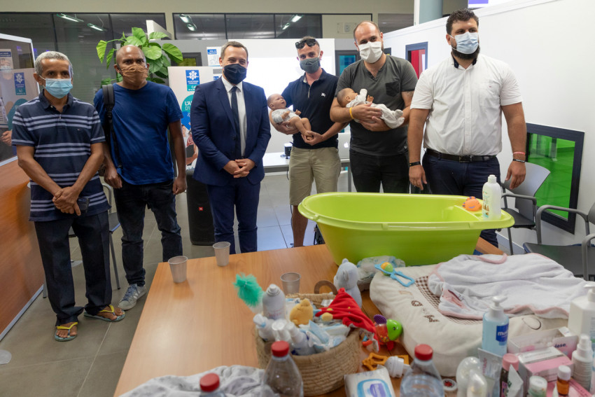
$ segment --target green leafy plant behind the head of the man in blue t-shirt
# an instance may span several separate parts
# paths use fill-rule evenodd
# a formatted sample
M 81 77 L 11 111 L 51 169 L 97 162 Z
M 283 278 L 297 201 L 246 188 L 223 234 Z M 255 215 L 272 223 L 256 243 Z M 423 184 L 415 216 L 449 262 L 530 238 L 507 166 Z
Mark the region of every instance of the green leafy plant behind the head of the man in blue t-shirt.
M 116 50 L 113 48 L 108 50 L 108 43 L 116 41 L 120 42 L 121 46 L 137 46 L 143 50 L 147 63 L 149 64 L 147 80 L 163 84 L 165 83 L 164 79 L 168 76 L 167 67 L 171 66 L 172 62 L 182 62 L 182 52 L 172 43 L 164 43 L 163 46 L 160 46 L 159 43 L 151 42 L 153 39 L 162 39 L 166 36 L 167 34 L 162 32 L 153 32 L 147 37 L 143 29 L 133 27 L 132 36 L 122 34 L 120 39 L 111 41 L 100 40 L 99 43 L 97 43 L 97 57 L 99 57 L 99 61 L 102 62 L 102 64 L 105 62 L 106 69 L 109 69 L 112 62 L 116 64 L 116 59 L 114 57 Z M 112 83 L 113 81 L 122 81 L 122 76 L 118 74 L 115 79 L 104 78 L 102 80 L 102 85 Z

